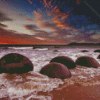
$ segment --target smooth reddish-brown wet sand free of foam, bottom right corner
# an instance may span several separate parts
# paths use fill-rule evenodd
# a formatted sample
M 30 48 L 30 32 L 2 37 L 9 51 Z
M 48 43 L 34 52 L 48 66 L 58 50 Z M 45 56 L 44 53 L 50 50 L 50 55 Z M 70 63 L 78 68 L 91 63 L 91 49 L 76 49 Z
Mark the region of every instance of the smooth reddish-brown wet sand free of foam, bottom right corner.
M 39 95 L 52 96 L 52 100 L 100 100 L 100 85 L 77 86 L 71 85 L 61 90 L 39 92 Z

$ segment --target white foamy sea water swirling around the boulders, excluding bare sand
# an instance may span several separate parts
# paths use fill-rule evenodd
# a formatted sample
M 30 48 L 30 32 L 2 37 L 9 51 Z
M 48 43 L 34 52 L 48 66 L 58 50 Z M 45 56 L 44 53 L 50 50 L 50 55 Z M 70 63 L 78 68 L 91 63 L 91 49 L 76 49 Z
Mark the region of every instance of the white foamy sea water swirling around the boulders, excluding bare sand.
M 81 52 L 81 50 L 89 52 Z M 69 85 L 92 86 L 100 84 L 100 67 L 87 68 L 77 65 L 76 68 L 70 69 L 72 77 L 65 80 L 49 78 L 39 73 L 40 69 L 48 64 L 56 56 L 68 56 L 74 61 L 80 56 L 90 56 L 95 58 L 99 63 L 97 56 L 100 53 L 93 52 L 97 48 L 36 48 L 33 47 L 9 47 L 8 49 L 0 48 L 0 58 L 9 53 L 19 53 L 28 57 L 33 65 L 34 70 L 24 74 L 0 74 L 0 100 L 9 97 L 10 100 L 52 100 L 52 96 L 37 95 L 38 92 L 49 92 L 54 88 Z M 55 52 L 56 50 L 56 52 Z M 62 87 L 62 88 L 63 88 Z M 28 95 L 28 96 L 27 96 Z M 26 97 L 25 97 L 26 96 Z

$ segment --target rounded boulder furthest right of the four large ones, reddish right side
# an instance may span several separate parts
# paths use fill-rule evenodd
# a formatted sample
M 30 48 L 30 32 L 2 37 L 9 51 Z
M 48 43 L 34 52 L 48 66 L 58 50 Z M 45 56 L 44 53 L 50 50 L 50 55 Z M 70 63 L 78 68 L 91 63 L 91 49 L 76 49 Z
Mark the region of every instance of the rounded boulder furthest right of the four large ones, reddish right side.
M 76 60 L 77 65 L 86 66 L 86 67 L 99 67 L 99 63 L 92 57 L 81 56 Z

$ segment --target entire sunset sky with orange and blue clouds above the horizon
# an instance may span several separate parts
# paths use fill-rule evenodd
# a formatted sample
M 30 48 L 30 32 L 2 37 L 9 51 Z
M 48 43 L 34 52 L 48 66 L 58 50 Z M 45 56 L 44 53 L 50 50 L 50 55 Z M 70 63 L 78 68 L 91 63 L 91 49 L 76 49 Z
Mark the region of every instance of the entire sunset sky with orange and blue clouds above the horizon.
M 100 43 L 99 0 L 0 0 L 0 44 Z

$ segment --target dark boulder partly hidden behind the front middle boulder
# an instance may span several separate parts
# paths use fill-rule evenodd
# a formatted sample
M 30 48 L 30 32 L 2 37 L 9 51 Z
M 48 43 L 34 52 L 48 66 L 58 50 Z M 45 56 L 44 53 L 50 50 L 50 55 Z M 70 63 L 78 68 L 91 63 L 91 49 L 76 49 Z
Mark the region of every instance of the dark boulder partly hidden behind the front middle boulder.
M 50 61 L 50 63 L 51 62 L 58 62 L 58 63 L 64 64 L 66 67 L 68 67 L 68 69 L 72 69 L 76 67 L 75 62 L 71 58 L 66 57 L 66 56 L 55 57 Z

